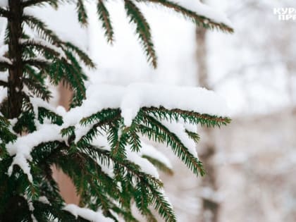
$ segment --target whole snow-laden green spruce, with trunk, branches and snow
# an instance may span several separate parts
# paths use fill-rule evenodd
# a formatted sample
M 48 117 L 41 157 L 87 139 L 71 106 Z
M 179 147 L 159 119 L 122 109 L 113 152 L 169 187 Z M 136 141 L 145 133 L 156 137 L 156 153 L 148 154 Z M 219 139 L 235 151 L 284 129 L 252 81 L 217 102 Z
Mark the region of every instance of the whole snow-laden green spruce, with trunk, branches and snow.
M 98 19 L 112 43 L 108 4 L 96 2 Z M 165 221 L 175 221 L 158 173 L 173 169 L 147 141 L 165 144 L 193 173 L 204 175 L 195 151 L 196 125 L 229 123 L 225 102 L 199 88 L 86 87 L 87 68 L 95 68 L 87 53 L 27 11 L 62 3 L 76 4 L 78 21 L 87 25 L 83 0 L 0 1 L 0 16 L 7 20 L 0 39 L 0 221 L 137 221 L 133 205 L 149 221 L 156 221 L 152 208 Z M 167 0 L 123 3 L 154 67 L 156 51 L 142 4 L 168 8 L 205 28 L 233 32 L 225 16 L 193 0 L 192 5 Z M 47 82 L 70 87 L 70 111 L 49 104 Z M 51 166 L 71 178 L 79 206 L 64 202 Z

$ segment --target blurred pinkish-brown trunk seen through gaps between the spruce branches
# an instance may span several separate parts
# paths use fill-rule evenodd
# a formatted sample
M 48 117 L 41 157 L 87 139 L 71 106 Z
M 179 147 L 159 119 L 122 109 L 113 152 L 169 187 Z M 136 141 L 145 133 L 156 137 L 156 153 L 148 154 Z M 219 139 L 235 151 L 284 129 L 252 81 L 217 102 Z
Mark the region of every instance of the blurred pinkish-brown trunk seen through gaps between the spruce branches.
M 60 99 L 58 104 L 65 107 L 65 109 L 69 109 L 69 101 L 72 97 L 72 92 L 63 87 L 63 85 L 59 85 L 58 91 L 60 94 Z M 54 179 L 58 183 L 58 187 L 60 188 L 61 196 L 65 199 L 67 204 L 79 204 L 79 197 L 76 195 L 75 186 L 72 183 L 72 180 L 63 173 L 60 169 L 53 167 L 54 171 Z

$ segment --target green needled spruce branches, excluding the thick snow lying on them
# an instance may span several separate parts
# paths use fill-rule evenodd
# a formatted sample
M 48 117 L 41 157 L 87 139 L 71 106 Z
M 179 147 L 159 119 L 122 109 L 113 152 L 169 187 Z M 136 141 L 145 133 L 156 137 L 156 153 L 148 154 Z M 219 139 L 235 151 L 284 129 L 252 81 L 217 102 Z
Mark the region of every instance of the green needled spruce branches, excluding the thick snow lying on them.
M 8 0 L 7 7 L 0 7 L 0 16 L 8 20 L 5 37 L 8 51 L 0 59 L 0 75 L 8 73 L 7 82 L 0 81 L 0 85 L 8 90 L 8 97 L 1 104 L 0 114 L 0 221 L 87 221 L 80 216 L 73 216 L 63 208 L 65 202 L 53 178 L 51 166 L 60 168 L 71 178 L 80 197 L 80 207 L 101 211 L 113 221 L 118 221 L 118 216 L 125 221 L 137 221 L 131 211 L 132 204 L 135 204 L 149 221 L 156 221 L 151 207 L 165 221 L 175 221 L 172 206 L 162 191 L 161 181 L 144 173 L 140 166 L 127 159 L 126 147 L 130 147 L 132 152 L 140 152 L 140 138 L 147 137 L 171 147 L 193 173 L 204 175 L 201 161 L 188 151 L 178 135 L 171 132 L 162 121 L 184 121 L 220 127 L 229 123 L 230 119 L 180 109 L 142 107 L 132 124 L 126 126 L 121 109 L 103 109 L 91 116 L 81 116 L 80 125 L 89 130 L 77 138 L 75 126 L 65 126 L 63 117 L 58 113 L 47 109 L 47 106 L 40 105 L 36 109 L 34 98 L 44 102 L 51 98 L 47 80 L 53 85 L 63 82 L 70 87 L 73 91 L 71 107 L 80 106 L 85 99 L 84 81 L 87 80 L 82 64 L 87 68 L 95 68 L 84 51 L 70 42 L 64 42 L 39 18 L 24 13 L 27 7 L 49 4 L 58 8 L 59 4 L 68 2 L 70 1 Z M 87 25 L 85 1 L 72 2 L 77 4 L 79 22 Z M 157 4 L 173 9 L 197 25 L 225 32 L 233 31 L 225 24 L 199 16 L 171 1 L 124 2 L 128 19 L 135 24 L 135 32 L 147 60 L 154 67 L 157 66 L 156 52 L 149 23 L 138 4 Z M 97 1 L 97 14 L 106 39 L 112 43 L 113 27 L 105 1 Z M 24 25 L 39 38 L 33 38 L 27 33 Z M 57 137 L 56 140 L 43 141 L 32 147 L 30 157 L 25 160 L 30 172 L 25 172 L 18 164 L 13 164 L 16 154 L 8 152 L 8 147 L 23 135 L 37 132 L 44 123 L 56 125 L 60 130 L 57 134 L 63 140 Z M 198 142 L 199 135 L 196 132 L 186 132 L 189 138 Z M 92 143 L 98 135 L 107 138 L 109 147 L 95 146 Z M 170 168 L 152 156 L 143 154 L 142 157 L 160 170 L 172 173 Z M 106 173 L 106 168 L 113 169 L 113 176 Z M 44 197 L 47 201 L 42 201 Z

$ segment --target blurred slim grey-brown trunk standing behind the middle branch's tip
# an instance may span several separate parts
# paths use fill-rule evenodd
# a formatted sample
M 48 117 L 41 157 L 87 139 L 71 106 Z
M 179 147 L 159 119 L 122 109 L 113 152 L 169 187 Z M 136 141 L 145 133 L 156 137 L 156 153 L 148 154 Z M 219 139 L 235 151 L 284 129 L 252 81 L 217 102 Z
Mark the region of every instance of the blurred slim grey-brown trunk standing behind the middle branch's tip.
M 200 87 L 209 87 L 208 70 L 207 70 L 207 49 L 206 49 L 206 29 L 197 27 L 196 29 L 196 43 L 197 43 L 197 74 Z M 215 193 L 217 189 L 216 169 L 212 163 L 214 154 L 216 153 L 216 146 L 211 128 L 204 128 L 203 149 L 199 151 L 199 158 L 204 163 L 206 175 L 202 178 L 202 190 L 210 190 Z M 219 204 L 215 202 L 214 198 L 203 197 L 202 195 L 202 214 L 199 221 L 201 222 L 217 222 Z

